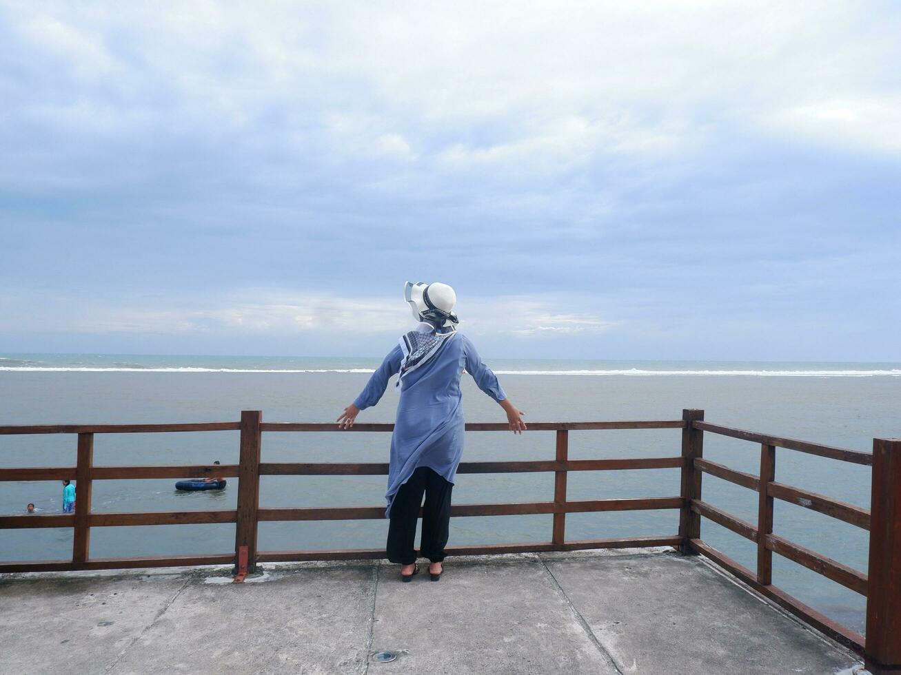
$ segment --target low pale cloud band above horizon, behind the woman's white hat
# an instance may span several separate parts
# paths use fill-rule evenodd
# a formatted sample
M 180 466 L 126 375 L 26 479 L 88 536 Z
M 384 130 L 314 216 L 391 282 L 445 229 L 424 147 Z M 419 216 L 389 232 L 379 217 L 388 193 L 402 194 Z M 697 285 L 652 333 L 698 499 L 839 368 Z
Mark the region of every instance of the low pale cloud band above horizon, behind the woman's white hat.
M 163 308 L 150 306 L 150 302 L 141 307 L 141 302 L 133 300 L 75 302 L 54 295 L 43 299 L 40 314 L 17 306 L 13 297 L 3 300 L 8 325 L 35 333 L 282 337 L 336 330 L 399 333 L 412 324 L 408 307 L 396 299 L 305 293 L 234 293 Z M 622 323 L 602 320 L 590 313 L 558 313 L 554 311 L 557 302 L 522 296 L 469 298 L 458 308 L 460 327 L 474 335 L 529 338 L 549 333 L 600 333 Z

